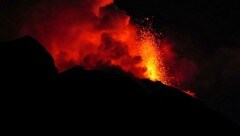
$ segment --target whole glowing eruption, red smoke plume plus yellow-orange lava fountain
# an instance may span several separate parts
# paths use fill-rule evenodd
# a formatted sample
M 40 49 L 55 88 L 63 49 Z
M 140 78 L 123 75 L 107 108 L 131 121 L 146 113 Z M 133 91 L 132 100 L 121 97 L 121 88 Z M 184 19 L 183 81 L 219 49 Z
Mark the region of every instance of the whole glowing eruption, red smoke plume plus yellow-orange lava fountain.
M 168 63 L 174 52 L 168 43 L 159 42 L 148 29 L 132 23 L 113 2 L 40 2 L 23 33 L 36 37 L 47 48 L 60 71 L 75 65 L 86 69 L 113 65 L 138 78 L 167 85 L 183 80 L 171 74 L 173 66 Z

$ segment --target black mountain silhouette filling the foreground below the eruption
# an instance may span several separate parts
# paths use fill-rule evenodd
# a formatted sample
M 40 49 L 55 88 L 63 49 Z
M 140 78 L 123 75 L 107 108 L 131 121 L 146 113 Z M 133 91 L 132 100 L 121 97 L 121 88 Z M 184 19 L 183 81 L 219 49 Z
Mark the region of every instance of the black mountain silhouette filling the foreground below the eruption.
M 2 117 L 10 130 L 67 134 L 130 130 L 149 135 L 166 130 L 239 131 L 237 124 L 200 100 L 161 82 L 136 79 L 114 66 L 97 70 L 76 66 L 57 74 L 52 57 L 34 39 L 0 44 Z

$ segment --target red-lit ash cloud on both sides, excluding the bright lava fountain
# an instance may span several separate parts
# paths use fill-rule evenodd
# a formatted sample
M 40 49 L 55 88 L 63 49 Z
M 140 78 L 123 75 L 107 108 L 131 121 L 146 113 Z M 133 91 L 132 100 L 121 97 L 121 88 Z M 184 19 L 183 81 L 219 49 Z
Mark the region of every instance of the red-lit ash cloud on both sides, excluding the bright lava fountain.
M 9 27 L 14 30 L 1 34 L 5 39 L 33 36 L 51 53 L 60 71 L 75 65 L 92 69 L 112 64 L 143 78 L 147 68 L 140 65 L 142 58 L 136 52 L 136 28 L 126 12 L 112 3 L 112 0 L 8 2 L 4 11 L 11 14 Z M 126 40 L 129 35 L 131 40 Z M 187 83 L 195 73 L 195 65 L 179 58 L 171 48 L 170 52 L 165 57 L 173 84 Z

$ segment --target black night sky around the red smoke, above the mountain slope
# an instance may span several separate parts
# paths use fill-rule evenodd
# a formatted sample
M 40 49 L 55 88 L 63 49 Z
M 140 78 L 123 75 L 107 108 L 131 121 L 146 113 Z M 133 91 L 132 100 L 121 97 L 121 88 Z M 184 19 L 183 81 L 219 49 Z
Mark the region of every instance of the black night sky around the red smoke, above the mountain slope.
M 0 0 L 0 41 L 18 37 L 38 0 Z M 193 60 L 188 83 L 199 98 L 240 123 L 240 8 L 237 1 L 116 0 L 133 21 L 153 16 L 153 27 Z

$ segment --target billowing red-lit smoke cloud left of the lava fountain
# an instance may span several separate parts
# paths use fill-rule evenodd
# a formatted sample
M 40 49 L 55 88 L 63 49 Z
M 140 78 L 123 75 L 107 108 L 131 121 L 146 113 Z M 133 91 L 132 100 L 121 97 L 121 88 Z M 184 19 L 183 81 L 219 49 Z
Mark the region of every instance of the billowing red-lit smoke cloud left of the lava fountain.
M 130 17 L 112 0 L 40 2 L 34 9 L 23 33 L 46 45 L 60 71 L 79 64 L 89 69 L 113 64 L 139 71 L 134 64 L 141 57 L 129 52 L 127 38 L 135 33 Z

